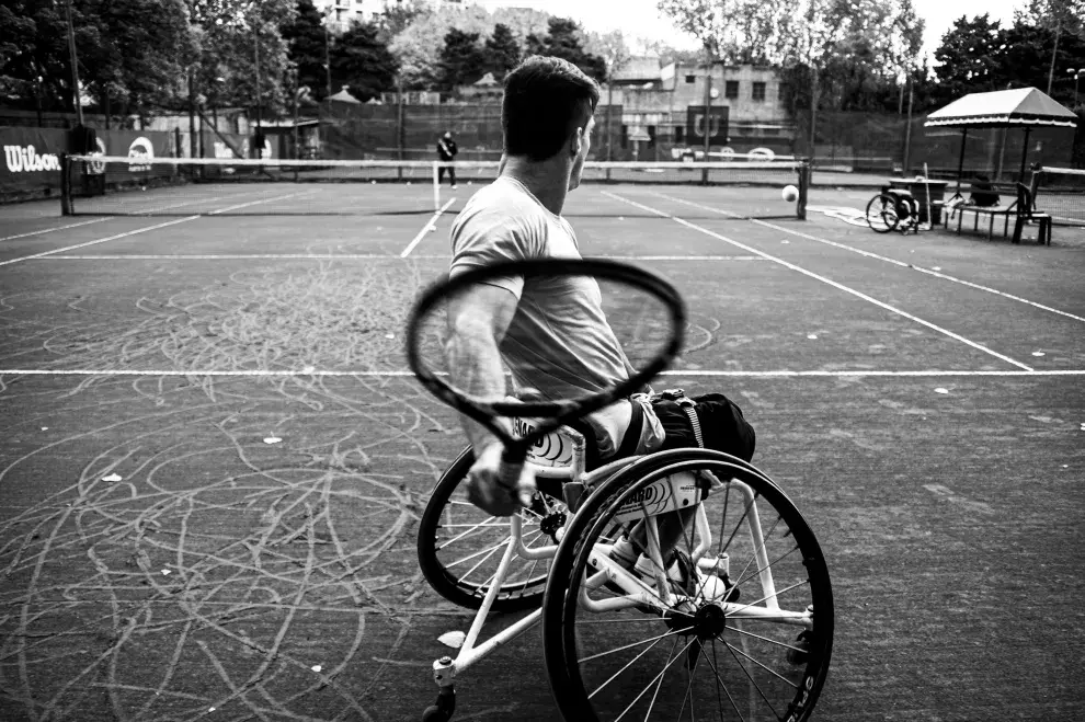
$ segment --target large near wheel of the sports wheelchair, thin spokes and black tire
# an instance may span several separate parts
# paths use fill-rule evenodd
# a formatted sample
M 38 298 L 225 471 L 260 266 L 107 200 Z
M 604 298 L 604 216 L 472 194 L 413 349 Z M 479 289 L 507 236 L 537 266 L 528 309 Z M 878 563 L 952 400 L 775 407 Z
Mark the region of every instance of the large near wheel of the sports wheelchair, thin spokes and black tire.
M 703 515 L 696 504 L 648 515 L 690 485 L 707 490 Z M 679 515 L 697 523 L 679 523 L 675 551 L 661 553 Z M 676 581 L 649 563 L 640 593 L 629 576 L 616 583 L 606 540 L 621 534 L 648 539 L 663 566 L 673 560 Z M 612 477 L 570 522 L 544 599 L 544 653 L 570 722 L 799 722 L 825 681 L 833 620 L 825 560 L 787 495 L 739 459 L 676 449 Z

